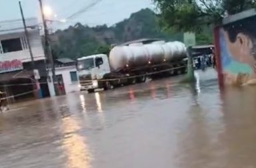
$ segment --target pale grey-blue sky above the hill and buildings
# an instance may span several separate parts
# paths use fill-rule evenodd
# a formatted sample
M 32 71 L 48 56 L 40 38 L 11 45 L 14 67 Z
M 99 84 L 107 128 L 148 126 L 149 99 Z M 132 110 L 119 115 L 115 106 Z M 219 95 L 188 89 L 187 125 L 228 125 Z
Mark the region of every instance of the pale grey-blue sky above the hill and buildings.
M 51 6 L 57 17 L 56 20 L 66 19 L 73 13 L 80 11 L 95 3 L 97 0 L 42 0 L 45 5 Z M 85 25 L 113 25 L 128 18 L 131 13 L 149 7 L 154 9 L 151 0 L 98 0 L 99 2 L 90 7 L 81 15 L 75 15 L 67 19 L 67 23 L 54 23 L 55 28 L 65 28 L 81 22 Z M 20 19 L 18 0 L 0 0 L 0 21 Z M 39 17 L 38 0 L 21 0 L 25 17 Z M 40 17 L 39 17 L 40 18 Z

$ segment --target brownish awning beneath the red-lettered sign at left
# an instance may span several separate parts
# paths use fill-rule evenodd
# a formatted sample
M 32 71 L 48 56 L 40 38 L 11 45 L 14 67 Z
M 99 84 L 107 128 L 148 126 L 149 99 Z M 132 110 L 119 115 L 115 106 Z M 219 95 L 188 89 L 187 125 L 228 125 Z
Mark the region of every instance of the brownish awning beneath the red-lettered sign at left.
M 31 78 L 33 72 L 31 70 L 19 70 L 15 72 L 7 72 L 0 74 L 0 82 L 8 82 L 11 80 L 17 80 L 19 78 Z

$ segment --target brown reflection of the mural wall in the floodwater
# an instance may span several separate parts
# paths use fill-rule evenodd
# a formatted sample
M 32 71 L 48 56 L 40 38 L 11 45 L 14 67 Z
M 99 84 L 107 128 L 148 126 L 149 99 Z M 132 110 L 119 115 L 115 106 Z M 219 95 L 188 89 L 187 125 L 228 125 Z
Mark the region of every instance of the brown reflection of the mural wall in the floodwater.
M 224 132 L 219 137 L 227 150 L 227 163 L 255 167 L 256 88 L 226 88 L 222 93 Z

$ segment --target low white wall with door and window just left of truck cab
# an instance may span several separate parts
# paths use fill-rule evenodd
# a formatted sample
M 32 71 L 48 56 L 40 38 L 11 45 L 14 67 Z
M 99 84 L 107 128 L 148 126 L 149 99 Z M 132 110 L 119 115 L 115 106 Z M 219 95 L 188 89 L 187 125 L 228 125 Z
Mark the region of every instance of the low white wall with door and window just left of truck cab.
M 55 68 L 55 74 L 56 75 L 62 75 L 63 82 L 65 86 L 65 92 L 66 94 L 69 94 L 71 92 L 78 92 L 79 89 L 79 82 L 72 82 L 71 81 L 71 74 L 70 72 L 77 72 L 77 68 L 75 66 L 66 66 L 66 67 L 59 67 Z M 53 78 L 50 70 L 50 76 L 51 76 L 51 82 L 48 80 L 48 86 L 51 96 L 55 96 L 54 94 L 54 87 L 53 87 Z

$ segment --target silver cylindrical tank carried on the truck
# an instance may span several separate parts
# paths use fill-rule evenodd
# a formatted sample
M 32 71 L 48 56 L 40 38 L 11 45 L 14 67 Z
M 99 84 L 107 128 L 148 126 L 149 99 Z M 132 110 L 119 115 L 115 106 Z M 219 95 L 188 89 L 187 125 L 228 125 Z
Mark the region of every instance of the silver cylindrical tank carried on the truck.
M 187 48 L 182 42 L 166 42 L 132 46 L 115 46 L 109 53 L 109 63 L 113 70 L 125 66 L 137 68 L 146 64 L 161 64 L 186 57 Z

